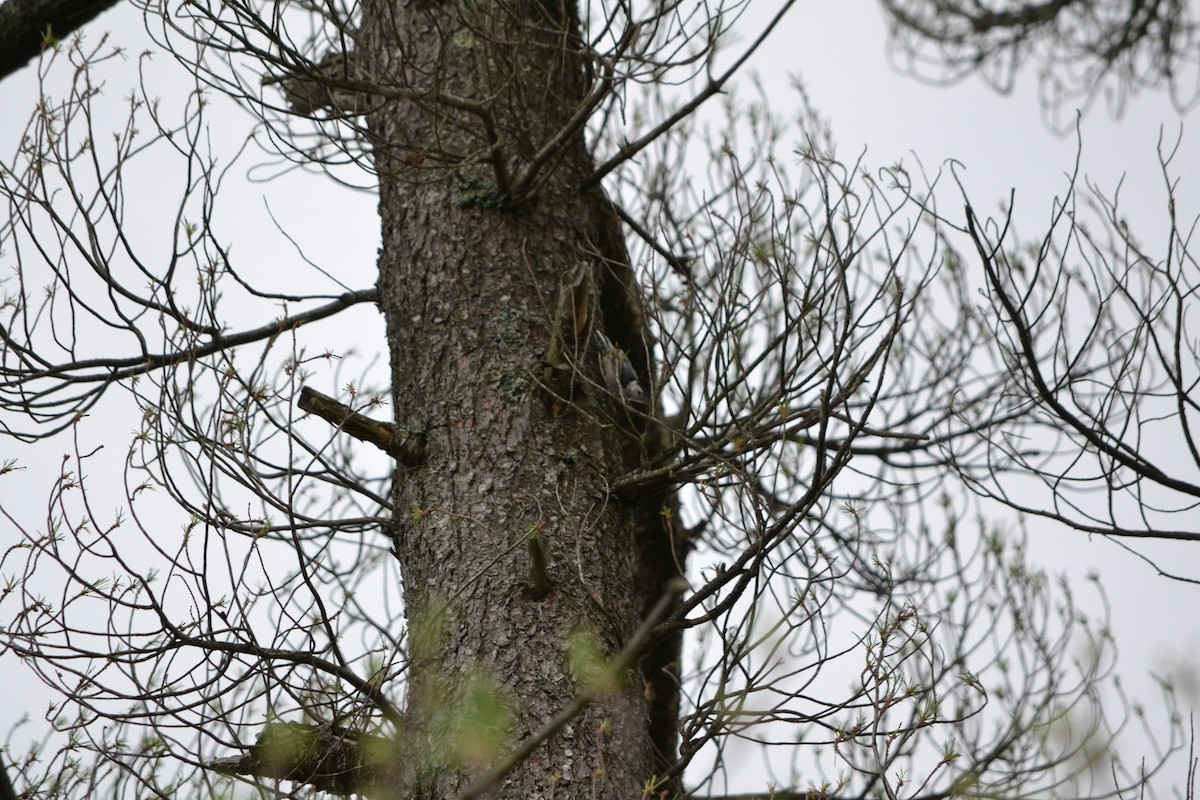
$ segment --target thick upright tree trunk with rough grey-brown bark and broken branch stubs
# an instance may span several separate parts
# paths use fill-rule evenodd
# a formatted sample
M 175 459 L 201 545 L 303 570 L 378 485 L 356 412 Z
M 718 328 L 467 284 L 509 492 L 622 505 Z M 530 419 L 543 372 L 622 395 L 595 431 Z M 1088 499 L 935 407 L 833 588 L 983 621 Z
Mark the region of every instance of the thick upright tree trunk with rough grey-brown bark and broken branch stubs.
M 580 265 L 589 326 L 607 319 L 614 341 L 640 342 L 646 377 L 643 331 L 613 330 L 641 319 L 619 290 L 629 266 L 612 209 L 580 191 L 592 167 L 582 132 L 535 192 L 504 185 L 587 90 L 564 46 L 575 28 L 570 12 L 539 4 L 365 6 L 361 68 L 385 97 L 408 91 L 368 119 L 396 422 L 425 445 L 394 494 L 412 728 L 397 796 L 466 788 L 570 705 L 661 593 L 640 564 L 640 542 L 662 529 L 661 500 L 606 493 L 638 458 L 636 427 L 602 392 L 564 402 L 542 384 L 558 296 Z M 575 342 L 580 363 L 595 361 L 590 341 Z M 650 710 L 641 675 L 624 678 L 497 796 L 640 796 L 656 770 Z

